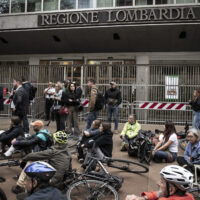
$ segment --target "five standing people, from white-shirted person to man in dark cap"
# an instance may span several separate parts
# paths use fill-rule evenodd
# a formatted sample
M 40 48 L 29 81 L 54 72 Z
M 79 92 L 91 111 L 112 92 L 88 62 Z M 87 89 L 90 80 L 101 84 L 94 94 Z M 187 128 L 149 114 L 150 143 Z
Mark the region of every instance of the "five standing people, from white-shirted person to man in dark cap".
M 99 93 L 101 92 L 96 84 L 95 80 L 90 79 L 88 81 L 88 87 L 90 89 L 89 94 L 89 113 L 86 122 L 86 129 L 91 127 L 94 120 L 98 118 L 99 104 L 106 104 L 107 121 L 111 122 L 112 115 L 114 116 L 114 132 L 118 133 L 118 107 L 121 104 L 121 92 L 117 89 L 117 84 L 110 82 L 110 88 L 106 90 L 103 99 L 99 102 Z M 50 120 L 51 112 L 54 113 L 56 120 L 57 131 L 65 130 L 67 121 L 67 131 L 78 135 L 80 133 L 78 123 L 78 112 L 82 111 L 83 105 L 81 104 L 82 89 L 77 86 L 75 82 L 66 81 L 64 86 L 62 83 L 57 82 L 55 88 L 52 82 L 49 82 L 48 88 L 44 90 L 46 99 L 45 113 L 46 120 Z M 63 107 L 67 108 L 67 113 L 59 112 Z

